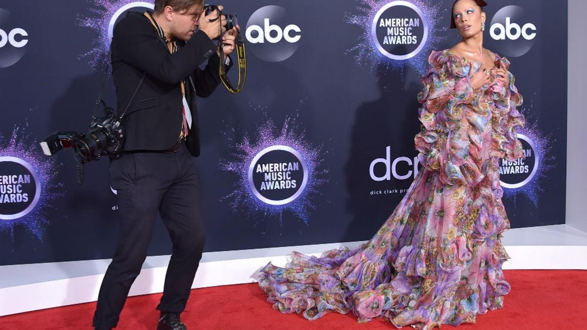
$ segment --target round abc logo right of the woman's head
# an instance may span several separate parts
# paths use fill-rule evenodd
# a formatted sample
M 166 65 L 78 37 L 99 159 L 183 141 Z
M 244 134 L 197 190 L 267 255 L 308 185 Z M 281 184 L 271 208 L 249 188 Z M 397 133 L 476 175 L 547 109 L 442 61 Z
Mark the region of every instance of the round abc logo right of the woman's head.
M 497 41 L 496 48 L 502 55 L 518 57 L 527 53 L 534 45 L 537 27 L 529 15 L 524 15 L 520 6 L 505 6 L 491 20 L 490 35 Z

